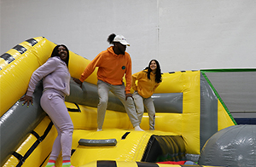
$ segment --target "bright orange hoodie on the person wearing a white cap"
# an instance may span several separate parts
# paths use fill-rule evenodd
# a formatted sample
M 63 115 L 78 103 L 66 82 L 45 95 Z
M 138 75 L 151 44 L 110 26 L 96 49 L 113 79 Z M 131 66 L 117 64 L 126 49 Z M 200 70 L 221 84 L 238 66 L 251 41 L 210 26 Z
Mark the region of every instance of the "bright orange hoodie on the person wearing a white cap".
M 120 85 L 123 83 L 125 75 L 125 93 L 131 93 L 131 57 L 127 52 L 125 52 L 125 55 L 116 55 L 113 52 L 113 46 L 102 51 L 86 66 L 80 81 L 84 82 L 95 70 L 96 66 L 98 67 L 97 78 L 105 83 Z

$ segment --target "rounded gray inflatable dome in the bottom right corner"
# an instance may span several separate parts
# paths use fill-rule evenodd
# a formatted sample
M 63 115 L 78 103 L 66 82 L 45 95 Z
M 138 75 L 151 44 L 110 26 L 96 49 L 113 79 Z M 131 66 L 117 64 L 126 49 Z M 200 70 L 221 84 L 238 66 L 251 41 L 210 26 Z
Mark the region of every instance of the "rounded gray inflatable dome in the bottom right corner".
M 243 124 L 220 130 L 207 141 L 199 164 L 232 167 L 256 166 L 256 125 Z

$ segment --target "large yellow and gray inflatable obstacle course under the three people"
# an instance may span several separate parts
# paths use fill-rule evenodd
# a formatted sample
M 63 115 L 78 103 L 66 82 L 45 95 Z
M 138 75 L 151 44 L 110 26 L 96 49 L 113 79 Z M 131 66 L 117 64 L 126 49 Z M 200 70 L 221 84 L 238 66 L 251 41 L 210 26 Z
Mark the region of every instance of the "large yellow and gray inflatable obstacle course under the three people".
M 28 39 L 0 56 L 0 165 L 44 167 L 56 130 L 40 107 L 42 83 L 33 94 L 33 106 L 20 97 L 38 66 L 49 58 L 55 43 L 45 37 Z M 79 78 L 90 60 L 70 51 L 69 70 Z M 148 130 L 148 114 L 135 131 L 121 102 L 110 93 L 102 131 L 96 131 L 96 71 L 82 86 L 71 81 L 66 106 L 73 120 L 74 166 L 180 166 L 163 161 L 197 162 L 207 140 L 236 121 L 214 91 L 207 72 L 162 74 L 163 82 L 152 96 L 155 130 Z M 61 158 L 56 166 L 60 166 Z M 109 164 L 109 165 L 108 165 Z

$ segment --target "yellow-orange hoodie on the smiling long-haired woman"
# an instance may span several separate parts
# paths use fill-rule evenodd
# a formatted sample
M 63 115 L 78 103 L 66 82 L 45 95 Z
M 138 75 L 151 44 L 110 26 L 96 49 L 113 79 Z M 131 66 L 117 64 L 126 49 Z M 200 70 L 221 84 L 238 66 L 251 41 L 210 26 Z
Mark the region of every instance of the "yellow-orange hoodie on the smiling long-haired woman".
M 148 70 L 143 70 L 132 75 L 131 85 L 132 89 L 136 90 L 139 95 L 148 98 L 154 94 L 154 90 L 160 83 L 155 83 L 155 75 L 153 72 L 150 72 L 150 79 L 148 79 Z

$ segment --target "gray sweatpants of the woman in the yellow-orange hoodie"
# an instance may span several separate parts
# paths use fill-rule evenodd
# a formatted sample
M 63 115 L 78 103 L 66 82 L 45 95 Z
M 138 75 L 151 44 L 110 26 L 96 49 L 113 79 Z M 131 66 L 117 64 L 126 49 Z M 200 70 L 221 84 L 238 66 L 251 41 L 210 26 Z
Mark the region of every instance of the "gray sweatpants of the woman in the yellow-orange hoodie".
M 140 121 L 142 122 L 144 107 L 148 111 L 149 117 L 149 130 L 154 130 L 154 118 L 155 118 L 155 109 L 154 109 L 154 102 L 151 97 L 143 98 L 143 96 L 139 95 L 137 91 L 135 91 L 132 95 L 136 109 L 137 109 L 137 116 Z

